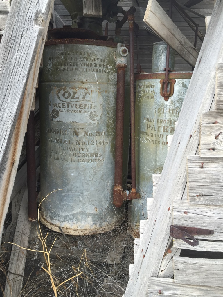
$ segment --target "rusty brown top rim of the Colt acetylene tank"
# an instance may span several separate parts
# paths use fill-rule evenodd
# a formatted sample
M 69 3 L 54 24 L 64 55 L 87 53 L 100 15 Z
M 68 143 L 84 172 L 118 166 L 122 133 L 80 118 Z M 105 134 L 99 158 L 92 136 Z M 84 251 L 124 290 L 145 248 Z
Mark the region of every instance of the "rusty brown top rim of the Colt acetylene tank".
M 79 38 L 59 38 L 50 39 L 45 42 L 46 45 L 57 45 L 57 44 L 85 44 L 85 45 L 100 45 L 109 48 L 117 48 L 117 43 L 112 41 L 95 40 L 95 39 L 79 39 Z

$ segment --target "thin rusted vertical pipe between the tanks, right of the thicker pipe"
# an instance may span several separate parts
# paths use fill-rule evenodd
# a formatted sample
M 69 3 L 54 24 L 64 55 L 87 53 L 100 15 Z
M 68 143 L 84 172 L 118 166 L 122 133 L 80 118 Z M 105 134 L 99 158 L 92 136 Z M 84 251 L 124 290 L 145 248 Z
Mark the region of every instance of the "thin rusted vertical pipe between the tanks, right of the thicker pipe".
M 130 72 L 130 121 L 131 121 L 131 173 L 132 193 L 136 193 L 136 149 L 135 149 L 135 101 L 134 101 L 134 13 L 135 7 L 127 12 L 129 23 L 129 72 Z

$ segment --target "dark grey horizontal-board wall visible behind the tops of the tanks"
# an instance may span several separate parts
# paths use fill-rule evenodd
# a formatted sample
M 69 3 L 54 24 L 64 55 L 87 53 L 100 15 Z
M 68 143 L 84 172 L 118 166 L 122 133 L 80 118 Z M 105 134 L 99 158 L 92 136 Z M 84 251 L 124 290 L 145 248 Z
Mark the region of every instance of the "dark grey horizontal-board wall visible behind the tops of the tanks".
M 119 6 L 122 6 L 124 10 L 128 10 L 129 7 L 135 6 L 136 7 L 136 14 L 135 14 L 135 21 L 139 25 L 139 55 L 140 55 L 140 64 L 142 69 L 145 72 L 151 72 L 151 65 L 152 65 L 152 49 L 153 49 L 153 42 L 160 41 L 160 39 L 153 34 L 147 32 L 143 27 L 146 24 L 143 22 L 143 17 L 145 15 L 145 10 L 147 6 L 147 0 L 138 0 L 140 7 L 137 7 L 134 0 L 120 0 L 118 3 Z M 178 3 L 184 4 L 186 0 L 177 0 Z M 168 13 L 169 12 L 169 1 L 165 0 L 158 0 L 158 3 L 164 10 Z M 214 0 L 203 0 L 197 5 L 191 7 L 192 9 L 196 10 L 197 12 L 203 15 L 211 15 L 212 10 L 214 7 Z M 71 18 L 63 4 L 60 0 L 55 0 L 54 2 L 54 9 L 58 13 L 58 15 L 62 18 L 66 25 L 71 25 Z M 196 15 L 188 12 L 188 14 L 193 18 L 193 20 L 199 24 L 199 29 L 205 35 L 205 19 L 197 17 Z M 120 15 L 120 19 L 122 15 Z M 173 7 L 173 17 L 174 23 L 178 26 L 180 31 L 188 38 L 188 40 L 194 44 L 194 31 L 187 25 L 187 23 L 183 20 L 180 14 L 175 10 Z M 103 30 L 105 28 L 105 23 L 103 23 Z M 109 36 L 114 37 L 115 33 L 115 23 L 109 23 Z M 124 37 L 125 43 L 128 45 L 128 22 L 122 28 L 121 35 Z M 197 49 L 200 50 L 202 42 L 200 39 L 197 39 Z M 136 56 L 136 42 L 135 42 L 135 66 L 137 64 L 137 56 Z M 135 67 L 136 68 L 136 67 Z M 191 71 L 191 66 L 180 58 L 179 55 L 176 55 L 175 59 L 175 70 L 176 71 Z M 136 72 L 136 71 L 135 71 Z

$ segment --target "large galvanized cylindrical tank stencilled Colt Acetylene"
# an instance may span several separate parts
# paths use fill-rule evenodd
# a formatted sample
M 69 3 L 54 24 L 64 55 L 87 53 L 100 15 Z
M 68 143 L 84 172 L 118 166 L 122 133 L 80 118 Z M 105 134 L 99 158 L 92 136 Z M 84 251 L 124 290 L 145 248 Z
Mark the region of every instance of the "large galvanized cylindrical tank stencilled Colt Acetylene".
M 123 221 L 112 204 L 117 44 L 49 40 L 40 83 L 41 203 L 44 225 L 67 234 L 106 232 Z M 126 74 L 123 184 L 129 148 Z M 62 189 L 58 190 L 57 189 Z

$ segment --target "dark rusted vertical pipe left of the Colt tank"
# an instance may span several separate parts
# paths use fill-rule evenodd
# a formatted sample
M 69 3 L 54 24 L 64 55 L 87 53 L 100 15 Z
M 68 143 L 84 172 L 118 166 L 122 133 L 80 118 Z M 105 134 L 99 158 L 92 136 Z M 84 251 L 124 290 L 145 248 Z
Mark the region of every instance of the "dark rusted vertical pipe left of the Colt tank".
M 30 111 L 26 132 L 26 159 L 27 159 L 27 190 L 29 221 L 37 219 L 36 205 L 36 157 L 35 157 L 35 128 L 34 110 Z

